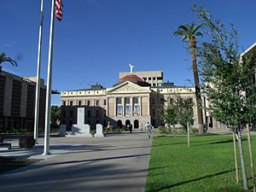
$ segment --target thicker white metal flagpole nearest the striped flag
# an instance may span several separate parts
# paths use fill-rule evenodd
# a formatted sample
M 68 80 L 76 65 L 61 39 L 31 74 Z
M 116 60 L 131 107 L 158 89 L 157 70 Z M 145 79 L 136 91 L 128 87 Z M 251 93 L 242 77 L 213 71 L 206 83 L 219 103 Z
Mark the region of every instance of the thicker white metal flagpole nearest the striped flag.
M 49 154 L 49 124 L 50 124 L 50 96 L 52 79 L 52 61 L 53 61 L 53 38 L 55 26 L 55 0 L 51 3 L 50 29 L 49 29 L 49 53 L 48 53 L 48 74 L 45 105 L 45 129 L 44 129 L 44 155 Z

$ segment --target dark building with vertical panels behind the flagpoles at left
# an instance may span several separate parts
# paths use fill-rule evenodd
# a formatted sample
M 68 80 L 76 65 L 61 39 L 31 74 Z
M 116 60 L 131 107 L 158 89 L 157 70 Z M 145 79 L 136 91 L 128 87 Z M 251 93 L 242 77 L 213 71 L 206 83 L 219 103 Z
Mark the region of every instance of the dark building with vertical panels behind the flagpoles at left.
M 0 73 L 0 131 L 33 130 L 35 110 L 35 78 L 22 78 Z M 44 128 L 46 87 L 41 79 L 39 128 Z

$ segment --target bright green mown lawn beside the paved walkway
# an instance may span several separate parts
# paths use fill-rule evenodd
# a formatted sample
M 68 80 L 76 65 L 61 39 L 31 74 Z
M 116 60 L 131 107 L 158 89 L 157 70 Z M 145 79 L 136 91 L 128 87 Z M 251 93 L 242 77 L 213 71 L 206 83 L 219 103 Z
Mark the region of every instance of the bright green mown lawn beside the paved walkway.
M 252 139 L 255 165 L 256 137 Z M 247 140 L 243 143 L 247 177 L 251 177 Z M 249 183 L 249 186 L 251 188 L 252 184 Z M 244 191 L 241 178 L 236 184 L 232 135 L 191 137 L 190 148 L 187 147 L 186 137 L 154 137 L 146 192 L 158 191 Z

